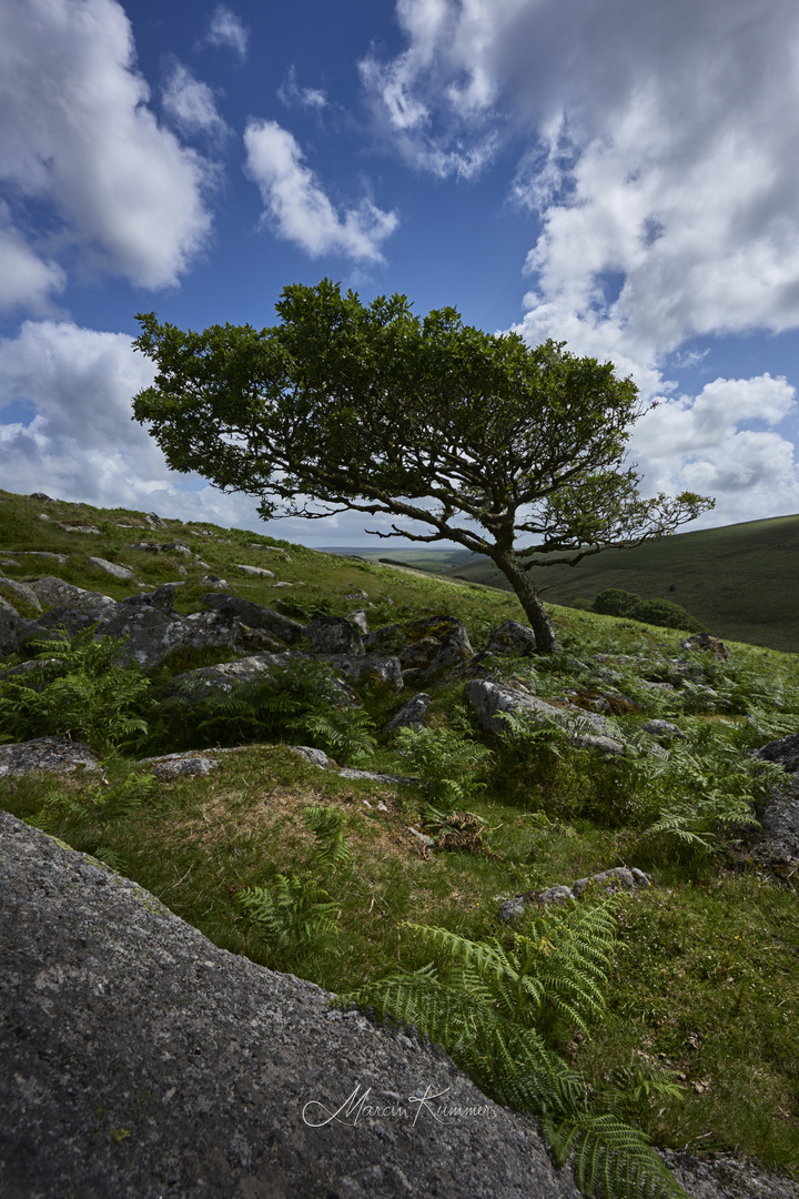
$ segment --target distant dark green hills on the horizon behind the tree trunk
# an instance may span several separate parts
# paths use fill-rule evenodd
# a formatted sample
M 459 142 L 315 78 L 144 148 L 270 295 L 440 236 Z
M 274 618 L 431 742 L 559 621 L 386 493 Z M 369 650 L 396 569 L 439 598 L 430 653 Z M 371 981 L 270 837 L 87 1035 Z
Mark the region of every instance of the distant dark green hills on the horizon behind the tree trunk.
M 443 578 L 510 590 L 485 558 L 458 548 L 326 547 L 369 561 L 392 560 Z M 671 600 L 719 637 L 799 652 L 799 516 L 682 532 L 637 549 L 609 549 L 577 566 L 534 570 L 545 600 L 573 604 L 605 588 Z

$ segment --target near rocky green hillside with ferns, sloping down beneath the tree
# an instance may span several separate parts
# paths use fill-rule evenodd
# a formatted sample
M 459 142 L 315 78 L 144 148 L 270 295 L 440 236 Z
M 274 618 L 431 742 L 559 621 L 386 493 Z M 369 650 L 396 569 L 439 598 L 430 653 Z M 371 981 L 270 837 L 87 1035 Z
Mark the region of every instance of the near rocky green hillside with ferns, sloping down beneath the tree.
M 0 571 L 0 808 L 576 1121 L 586 1165 L 601 1111 L 795 1177 L 793 655 L 557 605 L 535 655 L 497 589 L 7 492 Z

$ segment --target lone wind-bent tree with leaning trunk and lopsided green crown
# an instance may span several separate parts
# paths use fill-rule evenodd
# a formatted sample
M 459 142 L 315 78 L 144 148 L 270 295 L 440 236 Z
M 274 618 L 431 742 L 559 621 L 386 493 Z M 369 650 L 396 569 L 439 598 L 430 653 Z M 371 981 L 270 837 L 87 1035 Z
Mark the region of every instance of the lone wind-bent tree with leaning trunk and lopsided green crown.
M 158 374 L 134 416 L 169 465 L 260 496 L 265 519 L 386 514 L 394 535 L 486 555 L 541 652 L 555 633 L 531 567 L 661 537 L 713 504 L 638 495 L 635 385 L 564 343 L 531 349 L 454 308 L 419 319 L 400 295 L 364 306 L 329 279 L 286 288 L 277 311 L 261 332 L 138 317 L 134 345 Z

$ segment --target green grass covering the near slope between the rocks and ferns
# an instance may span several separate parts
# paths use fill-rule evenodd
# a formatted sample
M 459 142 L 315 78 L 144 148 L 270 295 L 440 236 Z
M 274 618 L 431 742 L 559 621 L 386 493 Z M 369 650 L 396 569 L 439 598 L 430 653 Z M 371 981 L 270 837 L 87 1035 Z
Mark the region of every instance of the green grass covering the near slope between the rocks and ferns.
M 201 583 L 206 567 L 194 559 L 126 550 L 132 530 L 115 522 L 141 522 L 140 513 L 42 505 L 10 493 L 0 493 L 0 559 L 6 559 L 4 549 L 69 555 L 59 565 L 20 554 L 17 566 L 2 566 L 8 577 L 24 582 L 54 573 L 122 598 L 139 589 L 97 572 L 87 561 L 90 554 L 116 555 L 113 560 L 131 565 L 147 588 L 183 579 L 177 589 L 181 610 L 201 605 L 208 590 Z M 41 511 L 53 519 L 40 520 Z M 89 536 L 63 532 L 56 519 L 92 522 L 101 535 L 89 535 L 86 548 Z M 365 603 L 373 605 L 367 609 L 373 627 L 456 613 L 480 649 L 492 627 L 520 616 L 512 596 L 483 586 L 236 530 L 192 536 L 193 529 L 210 528 L 169 522 L 165 530 L 135 530 L 135 536 L 180 540 L 193 548 L 196 542 L 202 561 L 234 583 L 238 595 L 303 620 L 321 611 L 344 615 Z M 255 542 L 282 546 L 291 561 L 252 548 Z M 277 578 L 236 573 L 238 562 L 268 564 Z M 186 576 L 177 574 L 180 565 Z M 274 589 L 276 582 L 295 586 Z M 365 591 L 369 600 L 347 598 L 356 591 Z M 611 1078 L 635 1080 L 637 1070 L 673 1071 L 684 1089 L 682 1102 L 629 1086 L 635 1109 L 630 1116 L 655 1144 L 732 1151 L 799 1177 L 797 880 L 753 866 L 734 867 L 726 850 L 727 842 L 743 836 L 734 829 L 720 826 L 712 852 L 652 840 L 646 832 L 670 806 L 692 797 L 698 802 L 714 788 L 720 803 L 742 794 L 750 808 L 756 805 L 761 783 L 749 749 L 799 728 L 799 662 L 734 644 L 730 663 L 697 656 L 694 681 L 674 691 L 648 689 L 641 686 L 644 675 L 679 677 L 674 659 L 684 655 L 678 631 L 568 608 L 553 607 L 552 614 L 563 653 L 551 661 L 508 662 L 508 679 L 525 681 L 540 695 L 630 697 L 637 710 L 619 705 L 619 728 L 637 736 L 653 716 L 676 721 L 689 737 L 695 777 L 690 763 L 670 775 L 665 767 L 658 772 L 659 759 L 646 753 L 625 761 L 601 760 L 557 737 L 533 739 L 521 749 L 486 742 L 464 706 L 461 685 L 452 682 L 435 692 L 430 723 L 491 749 L 490 760 L 476 767 L 474 778 L 484 789 L 474 788 L 464 805 L 490 830 L 492 856 L 424 852 L 408 832 L 411 824 L 424 826 L 424 789 L 347 781 L 309 765 L 277 741 L 220 754 L 208 776 L 159 782 L 138 806 L 117 814 L 113 802 L 103 806 L 103 797 L 122 794 L 120 785 L 135 770 L 132 755 L 105 760 L 108 788 L 99 790 L 92 790 L 96 783 L 89 777 L 0 779 L 0 805 L 77 849 L 99 852 L 216 944 L 265 965 L 291 969 L 291 962 L 286 966 L 285 957 L 259 935 L 242 894 L 276 887 L 286 874 L 313 881 L 335 906 L 338 935 L 331 944 L 320 942 L 314 960 L 298 959 L 293 968 L 332 990 L 428 963 L 429 946 L 404 922 L 440 926 L 472 939 L 496 936 L 502 934 L 496 914 L 503 898 L 571 884 L 612 866 L 637 866 L 653 875 L 654 886 L 622 904 L 605 1016 L 592 1022 L 591 1037 L 575 1036 L 561 1052 L 598 1092 Z M 180 673 L 200 658 L 176 659 L 167 670 Z M 362 698 L 379 727 L 401 703 L 380 688 L 364 689 Z M 672 760 L 683 761 L 679 754 Z M 373 766 L 408 772 L 397 742 L 386 737 Z M 349 856 L 327 867 L 307 823 L 313 807 L 341 817 Z

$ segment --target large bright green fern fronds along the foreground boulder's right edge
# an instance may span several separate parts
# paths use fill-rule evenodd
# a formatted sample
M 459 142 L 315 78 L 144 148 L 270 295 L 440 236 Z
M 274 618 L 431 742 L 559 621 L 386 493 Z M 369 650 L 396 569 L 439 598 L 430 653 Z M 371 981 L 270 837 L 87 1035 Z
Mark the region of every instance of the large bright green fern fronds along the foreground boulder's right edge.
M 484 1093 L 540 1116 L 558 1164 L 573 1159 L 583 1194 L 665 1199 L 684 1192 L 649 1138 L 613 1113 L 589 1111 L 587 1083 L 553 1048 L 569 1030 L 587 1034 L 604 1011 L 616 905 L 529 920 L 509 944 L 412 924 L 443 965 L 394 972 L 337 1002 L 412 1025 Z

